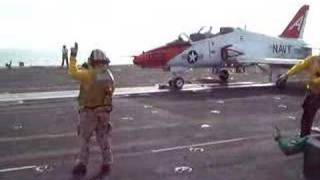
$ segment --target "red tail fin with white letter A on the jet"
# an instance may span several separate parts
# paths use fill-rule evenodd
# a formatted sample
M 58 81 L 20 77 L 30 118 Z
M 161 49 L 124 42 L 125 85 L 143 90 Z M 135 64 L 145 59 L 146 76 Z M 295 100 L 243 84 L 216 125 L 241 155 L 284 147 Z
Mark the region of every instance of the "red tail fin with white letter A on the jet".
M 280 37 L 283 38 L 302 38 L 304 26 L 306 25 L 309 6 L 302 6 L 297 14 L 293 17 L 286 29 L 282 32 Z

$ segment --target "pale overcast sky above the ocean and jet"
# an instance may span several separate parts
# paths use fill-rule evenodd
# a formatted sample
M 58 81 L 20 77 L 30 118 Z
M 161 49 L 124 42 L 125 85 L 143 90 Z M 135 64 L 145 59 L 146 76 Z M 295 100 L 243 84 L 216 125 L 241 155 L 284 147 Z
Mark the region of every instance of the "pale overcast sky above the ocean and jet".
M 100 48 L 111 61 L 127 61 L 202 26 L 278 36 L 304 4 L 304 40 L 318 48 L 317 0 L 0 0 L 0 48 L 60 52 L 77 41 L 80 54 Z

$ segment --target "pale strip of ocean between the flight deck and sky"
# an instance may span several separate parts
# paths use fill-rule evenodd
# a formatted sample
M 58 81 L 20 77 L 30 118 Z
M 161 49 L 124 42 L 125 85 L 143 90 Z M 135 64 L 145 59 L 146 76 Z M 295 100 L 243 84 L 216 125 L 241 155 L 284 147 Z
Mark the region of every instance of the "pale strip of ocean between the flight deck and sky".
M 78 64 L 87 61 L 88 55 L 78 55 Z M 111 65 L 132 64 L 130 58 L 114 58 L 111 59 Z M 28 49 L 0 49 L 0 67 L 5 67 L 6 63 L 12 61 L 12 67 L 18 67 L 20 62 L 24 66 L 60 66 L 61 50 L 28 50 Z

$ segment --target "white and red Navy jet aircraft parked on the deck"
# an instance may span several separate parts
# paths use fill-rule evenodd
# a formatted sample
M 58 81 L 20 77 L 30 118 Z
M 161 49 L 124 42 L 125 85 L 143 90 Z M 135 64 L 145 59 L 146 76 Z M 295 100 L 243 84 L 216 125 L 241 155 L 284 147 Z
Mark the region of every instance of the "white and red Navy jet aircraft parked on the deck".
M 302 40 L 309 6 L 300 8 L 279 37 L 267 36 L 240 28 L 222 27 L 220 32 L 199 32 L 187 36 L 182 34 L 165 46 L 134 56 L 133 63 L 142 68 L 162 68 L 173 77 L 169 86 L 181 89 L 184 85 L 182 73 L 190 68 L 212 68 L 220 80 L 227 81 L 226 65 L 267 64 L 294 65 L 312 54 L 312 49 Z

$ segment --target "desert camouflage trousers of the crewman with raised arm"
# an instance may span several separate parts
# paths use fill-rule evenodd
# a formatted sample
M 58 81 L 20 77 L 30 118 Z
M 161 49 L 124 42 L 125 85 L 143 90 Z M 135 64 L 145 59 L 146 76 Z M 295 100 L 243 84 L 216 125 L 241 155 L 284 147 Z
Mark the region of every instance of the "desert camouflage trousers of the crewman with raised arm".
M 95 109 L 84 108 L 79 111 L 78 136 L 80 138 L 80 153 L 77 163 L 88 164 L 90 139 L 95 133 L 97 144 L 102 154 L 102 163 L 112 163 L 110 147 L 110 108 L 98 107 Z

